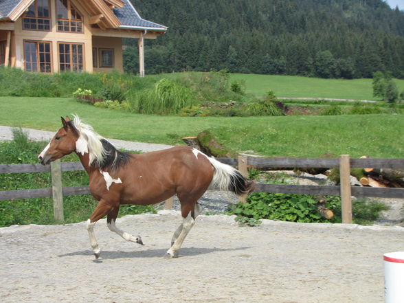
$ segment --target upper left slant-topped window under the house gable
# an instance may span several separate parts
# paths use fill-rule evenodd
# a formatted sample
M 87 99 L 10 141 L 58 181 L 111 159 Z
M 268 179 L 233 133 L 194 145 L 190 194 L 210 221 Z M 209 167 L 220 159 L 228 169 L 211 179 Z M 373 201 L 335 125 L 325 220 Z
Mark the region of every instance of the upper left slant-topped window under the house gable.
M 35 0 L 23 15 L 23 30 L 50 31 L 49 0 Z

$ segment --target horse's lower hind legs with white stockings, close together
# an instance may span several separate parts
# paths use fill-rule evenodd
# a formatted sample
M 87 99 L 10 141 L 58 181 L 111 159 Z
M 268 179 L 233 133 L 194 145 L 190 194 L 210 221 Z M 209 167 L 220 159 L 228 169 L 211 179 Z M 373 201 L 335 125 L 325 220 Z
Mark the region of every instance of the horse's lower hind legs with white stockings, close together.
M 178 251 L 181 248 L 183 240 L 185 240 L 192 226 L 194 226 L 195 218 L 201 213 L 201 206 L 199 204 L 195 204 L 193 211 L 190 207 L 182 207 L 181 212 L 183 222 L 175 231 L 174 236 L 172 236 L 173 243 L 166 254 L 168 258 L 178 257 Z

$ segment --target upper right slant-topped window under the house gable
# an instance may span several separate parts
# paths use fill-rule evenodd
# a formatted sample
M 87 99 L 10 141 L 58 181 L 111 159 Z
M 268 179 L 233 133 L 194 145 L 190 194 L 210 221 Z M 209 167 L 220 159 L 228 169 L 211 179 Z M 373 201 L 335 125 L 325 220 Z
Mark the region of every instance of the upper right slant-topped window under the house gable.
M 82 19 L 70 0 L 56 1 L 59 32 L 82 32 Z

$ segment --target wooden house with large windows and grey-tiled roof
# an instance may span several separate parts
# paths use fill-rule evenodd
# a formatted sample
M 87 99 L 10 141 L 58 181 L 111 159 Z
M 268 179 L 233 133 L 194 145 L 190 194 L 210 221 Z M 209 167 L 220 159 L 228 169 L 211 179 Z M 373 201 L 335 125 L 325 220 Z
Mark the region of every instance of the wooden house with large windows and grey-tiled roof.
M 0 0 L 0 65 L 123 72 L 122 38 L 137 38 L 144 76 L 144 39 L 166 30 L 142 19 L 129 0 Z

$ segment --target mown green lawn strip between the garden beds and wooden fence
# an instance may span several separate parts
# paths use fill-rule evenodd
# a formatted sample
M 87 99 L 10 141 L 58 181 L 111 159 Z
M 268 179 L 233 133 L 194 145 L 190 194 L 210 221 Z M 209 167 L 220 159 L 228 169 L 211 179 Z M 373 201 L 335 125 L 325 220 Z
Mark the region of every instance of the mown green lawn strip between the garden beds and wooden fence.
M 180 144 L 179 138 L 210 129 L 234 150 L 271 157 L 404 155 L 402 115 L 179 117 L 98 109 L 71 98 L 0 97 L 0 125 L 56 131 L 60 116 L 71 113 L 115 139 Z

